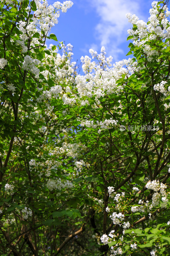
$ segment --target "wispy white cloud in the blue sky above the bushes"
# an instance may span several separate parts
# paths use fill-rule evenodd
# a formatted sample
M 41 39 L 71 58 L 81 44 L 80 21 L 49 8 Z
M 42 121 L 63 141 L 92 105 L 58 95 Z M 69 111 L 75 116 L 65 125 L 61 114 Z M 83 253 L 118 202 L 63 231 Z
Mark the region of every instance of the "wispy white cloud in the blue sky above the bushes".
M 99 22 L 95 28 L 96 37 L 100 40 L 100 46 L 105 46 L 109 55 L 118 60 L 123 50 L 120 44 L 126 41 L 127 30 L 132 27 L 125 16 L 126 13 L 139 15 L 141 13 L 140 0 L 91 0 L 90 4 L 95 8 Z

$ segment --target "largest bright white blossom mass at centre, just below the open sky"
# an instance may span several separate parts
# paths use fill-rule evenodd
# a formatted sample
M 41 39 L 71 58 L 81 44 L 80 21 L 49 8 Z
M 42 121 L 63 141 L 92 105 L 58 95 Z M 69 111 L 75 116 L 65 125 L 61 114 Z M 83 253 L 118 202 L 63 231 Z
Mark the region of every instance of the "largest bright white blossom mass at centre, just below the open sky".
M 124 66 L 127 66 L 127 68 L 124 68 Z M 78 93 L 80 97 L 92 98 L 92 96 L 96 96 L 96 103 L 99 104 L 98 99 L 100 97 L 123 91 L 122 85 L 118 86 L 116 81 L 121 79 L 124 74 L 126 76 L 133 74 L 134 68 L 136 68 L 136 62 L 128 59 L 116 62 L 113 68 L 97 69 L 94 75 L 90 73 L 84 76 L 77 75 L 75 80 Z

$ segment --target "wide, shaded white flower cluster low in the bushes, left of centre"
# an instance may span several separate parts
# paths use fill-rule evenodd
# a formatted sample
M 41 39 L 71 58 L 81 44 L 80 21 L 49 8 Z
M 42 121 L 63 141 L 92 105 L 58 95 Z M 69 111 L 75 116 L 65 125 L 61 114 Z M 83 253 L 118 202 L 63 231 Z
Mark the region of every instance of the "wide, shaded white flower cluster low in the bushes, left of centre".
M 48 180 L 46 186 L 52 191 L 54 189 L 61 190 L 62 188 L 72 188 L 73 184 L 68 180 L 62 181 L 58 178 L 57 180 Z

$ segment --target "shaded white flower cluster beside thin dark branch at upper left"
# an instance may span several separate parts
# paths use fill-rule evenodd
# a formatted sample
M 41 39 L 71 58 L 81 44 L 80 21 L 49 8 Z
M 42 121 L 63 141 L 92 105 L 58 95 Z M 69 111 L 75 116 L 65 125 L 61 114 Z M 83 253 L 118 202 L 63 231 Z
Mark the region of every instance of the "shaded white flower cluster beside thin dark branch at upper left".
M 22 64 L 22 68 L 26 71 L 31 71 L 35 76 L 38 76 L 40 73 L 40 70 L 36 68 L 36 66 L 40 63 L 39 60 L 35 59 L 33 60 L 31 56 L 26 55 L 24 57 L 24 62 Z

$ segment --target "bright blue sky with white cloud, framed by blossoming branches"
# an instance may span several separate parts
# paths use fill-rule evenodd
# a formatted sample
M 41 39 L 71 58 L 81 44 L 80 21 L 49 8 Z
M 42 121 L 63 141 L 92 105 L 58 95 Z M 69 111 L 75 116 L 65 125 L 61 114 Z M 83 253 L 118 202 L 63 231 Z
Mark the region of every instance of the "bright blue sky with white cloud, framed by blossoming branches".
M 55 1 L 54 1 L 55 2 Z M 48 3 L 53 4 L 52 0 Z M 62 1 L 61 1 L 62 2 Z M 125 14 L 136 14 L 147 22 L 152 0 L 72 0 L 73 6 L 61 12 L 58 24 L 51 29 L 58 41 L 73 45 L 73 61 L 80 62 L 89 49 L 100 52 L 105 46 L 113 63 L 127 58 L 127 30 L 132 28 Z M 54 42 L 54 41 L 53 41 Z M 47 44 L 53 43 L 51 40 Z M 55 44 L 55 42 L 54 42 Z

